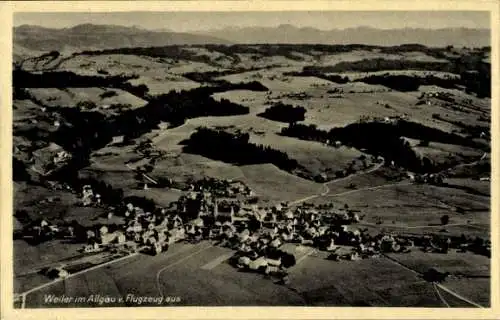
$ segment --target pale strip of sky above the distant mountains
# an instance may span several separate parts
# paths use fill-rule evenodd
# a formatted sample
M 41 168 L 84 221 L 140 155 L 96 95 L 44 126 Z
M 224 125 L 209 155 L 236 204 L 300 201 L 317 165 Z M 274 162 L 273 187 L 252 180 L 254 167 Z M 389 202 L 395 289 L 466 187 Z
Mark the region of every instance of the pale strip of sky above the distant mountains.
M 23 24 L 66 28 L 83 23 L 208 31 L 226 27 L 273 27 L 291 24 L 321 30 L 367 26 L 379 29 L 448 27 L 490 28 L 487 11 L 277 11 L 277 12 L 24 12 L 14 14 L 14 26 Z

